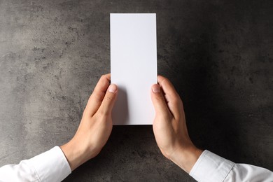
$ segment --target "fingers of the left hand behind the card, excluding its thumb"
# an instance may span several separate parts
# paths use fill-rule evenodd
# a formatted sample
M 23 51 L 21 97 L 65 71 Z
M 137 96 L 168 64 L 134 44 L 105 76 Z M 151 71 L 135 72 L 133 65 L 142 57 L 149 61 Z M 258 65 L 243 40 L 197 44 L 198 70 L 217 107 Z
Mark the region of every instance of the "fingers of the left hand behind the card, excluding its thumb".
M 85 111 L 87 112 L 88 116 L 94 116 L 94 113 L 97 112 L 99 106 L 101 106 L 104 96 L 106 94 L 106 90 L 110 85 L 110 73 L 103 75 L 96 87 L 94 87 L 94 91 L 92 92 L 90 98 L 88 99 Z

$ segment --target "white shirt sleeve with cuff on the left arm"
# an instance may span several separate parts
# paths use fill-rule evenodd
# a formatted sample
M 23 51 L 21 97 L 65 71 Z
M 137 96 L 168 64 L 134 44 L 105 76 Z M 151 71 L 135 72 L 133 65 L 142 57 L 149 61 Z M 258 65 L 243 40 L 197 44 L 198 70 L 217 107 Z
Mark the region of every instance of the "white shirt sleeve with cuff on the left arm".
M 18 165 L 5 165 L 0 168 L 0 181 L 62 181 L 71 174 L 61 148 L 54 148 L 22 160 Z

